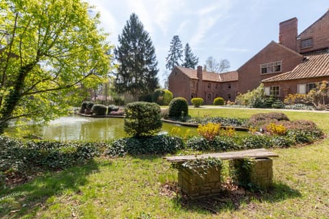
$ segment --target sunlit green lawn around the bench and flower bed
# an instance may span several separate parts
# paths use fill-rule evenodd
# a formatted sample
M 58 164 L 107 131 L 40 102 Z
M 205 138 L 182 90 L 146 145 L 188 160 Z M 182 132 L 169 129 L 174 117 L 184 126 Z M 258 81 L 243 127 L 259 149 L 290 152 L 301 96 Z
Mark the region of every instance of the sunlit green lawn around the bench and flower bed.
M 192 116 L 239 118 L 257 112 L 262 110 L 190 110 Z M 291 120 L 313 120 L 329 133 L 329 113 L 285 113 Z M 102 157 L 1 191 L 0 218 L 328 218 L 328 145 L 326 138 L 274 150 L 280 157 L 273 161 L 274 187 L 268 193 L 236 192 L 199 202 L 184 201 L 169 189 L 177 170 L 160 156 Z

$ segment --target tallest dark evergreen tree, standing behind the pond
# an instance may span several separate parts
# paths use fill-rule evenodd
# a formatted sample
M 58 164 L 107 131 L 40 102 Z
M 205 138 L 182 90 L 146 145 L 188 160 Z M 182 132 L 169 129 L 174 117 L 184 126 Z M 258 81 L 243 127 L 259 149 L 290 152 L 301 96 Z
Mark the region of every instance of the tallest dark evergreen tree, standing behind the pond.
M 143 23 L 136 14 L 123 27 L 119 46 L 114 49 L 119 62 L 114 86 L 119 93 L 127 92 L 137 100 L 138 96 L 150 94 L 158 88 L 158 61 L 155 49 Z

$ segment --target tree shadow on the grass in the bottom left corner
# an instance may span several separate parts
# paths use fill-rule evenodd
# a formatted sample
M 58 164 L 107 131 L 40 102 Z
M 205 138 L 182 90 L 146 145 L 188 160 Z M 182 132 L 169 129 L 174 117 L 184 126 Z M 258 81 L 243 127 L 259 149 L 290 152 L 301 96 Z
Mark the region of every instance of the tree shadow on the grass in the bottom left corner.
M 24 185 L 0 191 L 0 218 L 33 218 L 38 210 L 47 207 L 51 196 L 70 191 L 79 193 L 80 186 L 88 183 L 86 178 L 99 172 L 99 164 L 90 160 L 60 172 L 47 172 Z

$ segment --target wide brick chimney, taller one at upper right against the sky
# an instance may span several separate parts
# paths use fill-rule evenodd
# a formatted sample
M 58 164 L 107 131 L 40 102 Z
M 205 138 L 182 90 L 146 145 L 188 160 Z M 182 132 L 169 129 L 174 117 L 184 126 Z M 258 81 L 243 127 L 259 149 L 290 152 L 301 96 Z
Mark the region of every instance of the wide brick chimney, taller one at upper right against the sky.
M 297 23 L 297 18 L 291 18 L 279 24 L 279 43 L 293 51 L 297 51 Z

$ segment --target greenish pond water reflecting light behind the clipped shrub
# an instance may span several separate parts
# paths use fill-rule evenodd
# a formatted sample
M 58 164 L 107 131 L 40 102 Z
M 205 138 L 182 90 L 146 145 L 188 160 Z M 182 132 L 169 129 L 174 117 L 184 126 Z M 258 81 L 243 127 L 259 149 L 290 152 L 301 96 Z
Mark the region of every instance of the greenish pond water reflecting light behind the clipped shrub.
M 182 127 L 169 123 L 163 123 L 160 133 L 170 133 L 173 127 L 181 129 L 180 134 L 184 136 L 189 129 L 189 133 L 196 135 L 197 129 L 192 127 Z M 45 127 L 28 127 L 22 129 L 23 136 L 34 134 L 43 140 L 58 141 L 99 141 L 110 138 L 125 137 L 123 130 L 123 118 L 89 118 L 82 116 L 67 116 L 51 121 Z M 14 129 L 6 131 L 10 136 L 21 137 Z

